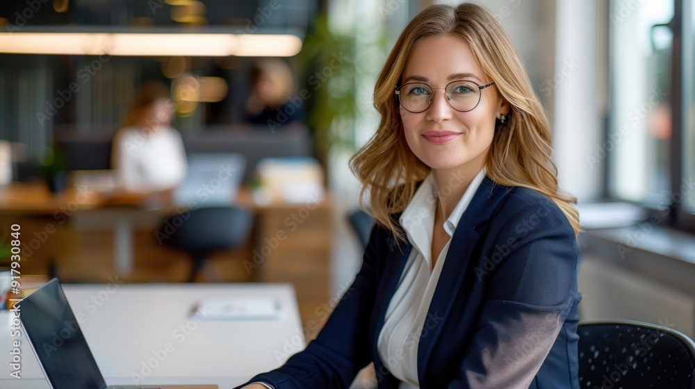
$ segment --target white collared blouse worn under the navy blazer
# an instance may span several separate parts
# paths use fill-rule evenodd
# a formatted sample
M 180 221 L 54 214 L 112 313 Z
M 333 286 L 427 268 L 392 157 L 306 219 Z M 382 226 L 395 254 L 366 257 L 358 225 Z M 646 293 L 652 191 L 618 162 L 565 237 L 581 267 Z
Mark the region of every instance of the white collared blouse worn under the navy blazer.
M 451 215 L 444 222 L 444 231 L 449 240 L 441 250 L 432 269 L 432 233 L 436 206 L 436 188 L 432 174 L 416 190 L 407 208 L 400 217 L 413 249 L 410 252 L 403 274 L 393 298 L 386 309 L 384 326 L 377 339 L 379 356 L 384 366 L 400 381 L 399 389 L 420 388 L 418 383 L 418 345 L 420 333 L 425 325 L 432 295 L 439 281 L 439 274 L 449 251 L 451 236 L 454 235 L 461 215 L 485 178 L 485 168 L 475 175 L 471 185 L 459 199 Z

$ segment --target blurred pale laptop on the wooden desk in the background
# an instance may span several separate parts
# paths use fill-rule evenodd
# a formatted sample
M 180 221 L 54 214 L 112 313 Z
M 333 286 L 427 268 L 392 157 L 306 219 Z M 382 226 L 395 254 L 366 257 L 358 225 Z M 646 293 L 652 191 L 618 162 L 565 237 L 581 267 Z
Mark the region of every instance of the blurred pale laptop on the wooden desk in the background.
M 186 179 L 174 190 L 174 204 L 206 208 L 234 204 L 246 158 L 239 153 L 189 153 Z

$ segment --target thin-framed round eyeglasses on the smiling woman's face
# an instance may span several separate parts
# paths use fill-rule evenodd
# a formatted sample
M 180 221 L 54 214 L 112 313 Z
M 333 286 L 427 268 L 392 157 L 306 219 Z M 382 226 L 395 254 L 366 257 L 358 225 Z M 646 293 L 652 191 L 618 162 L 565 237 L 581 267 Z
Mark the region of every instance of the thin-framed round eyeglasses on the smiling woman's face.
M 432 105 L 434 90 L 443 89 L 451 108 L 468 112 L 480 103 L 480 91 L 491 85 L 495 85 L 494 81 L 485 85 L 477 85 L 473 81 L 452 81 L 445 88 L 432 88 L 425 83 L 407 83 L 395 88 L 395 94 L 405 110 L 421 113 Z

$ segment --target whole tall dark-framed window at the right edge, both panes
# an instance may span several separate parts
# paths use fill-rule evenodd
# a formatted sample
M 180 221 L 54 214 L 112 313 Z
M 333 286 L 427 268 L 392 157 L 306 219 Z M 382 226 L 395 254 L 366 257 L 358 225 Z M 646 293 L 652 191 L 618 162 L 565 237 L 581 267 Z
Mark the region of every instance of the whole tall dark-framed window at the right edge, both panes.
M 695 225 L 694 20 L 690 0 L 610 1 L 608 194 L 679 226 Z

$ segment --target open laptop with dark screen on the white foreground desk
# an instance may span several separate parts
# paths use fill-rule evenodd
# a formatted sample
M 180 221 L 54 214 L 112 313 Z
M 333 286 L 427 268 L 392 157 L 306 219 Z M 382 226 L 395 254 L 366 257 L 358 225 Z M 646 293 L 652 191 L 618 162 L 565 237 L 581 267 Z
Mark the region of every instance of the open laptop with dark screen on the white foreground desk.
M 218 389 L 217 385 L 107 386 L 58 279 L 24 297 L 21 309 L 19 320 L 51 389 Z

